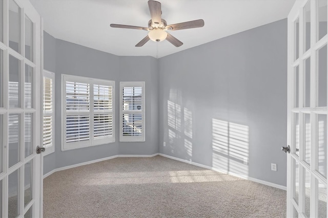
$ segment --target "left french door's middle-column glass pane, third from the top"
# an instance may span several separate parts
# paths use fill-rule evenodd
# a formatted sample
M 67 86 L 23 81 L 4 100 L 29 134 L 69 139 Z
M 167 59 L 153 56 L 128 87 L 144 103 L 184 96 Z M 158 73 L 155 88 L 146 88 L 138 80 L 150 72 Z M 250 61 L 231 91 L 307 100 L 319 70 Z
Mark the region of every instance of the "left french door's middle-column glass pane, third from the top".
M 20 161 L 20 114 L 9 114 L 9 167 Z

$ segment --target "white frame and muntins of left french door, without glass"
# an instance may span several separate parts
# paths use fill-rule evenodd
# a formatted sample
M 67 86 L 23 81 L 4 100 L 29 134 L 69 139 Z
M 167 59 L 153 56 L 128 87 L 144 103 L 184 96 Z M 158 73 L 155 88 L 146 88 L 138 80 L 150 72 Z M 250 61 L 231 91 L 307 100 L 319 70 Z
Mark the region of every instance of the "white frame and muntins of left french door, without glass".
M 41 114 L 40 114 L 40 109 L 41 109 L 41 97 L 40 97 L 40 93 L 42 93 L 41 91 L 41 87 L 38 86 L 37 84 L 40 83 L 40 76 L 41 76 L 41 56 L 40 56 L 40 51 L 41 51 L 41 41 L 40 41 L 40 31 L 42 28 L 40 25 L 40 16 L 39 14 L 36 12 L 36 10 L 33 8 L 32 4 L 29 1 L 23 1 L 23 0 L 14 0 L 15 4 L 18 5 L 19 9 L 19 22 L 20 22 L 20 37 L 19 37 L 19 47 L 20 47 L 20 52 L 17 53 L 14 50 L 12 50 L 11 48 L 9 48 L 9 31 L 8 31 L 8 19 L 9 19 L 9 13 L 8 13 L 8 1 L 3 1 L 4 3 L 4 44 L 2 44 L 2 48 L 4 49 L 4 89 L 6 89 L 6 91 L 4 92 L 4 95 L 6 95 L 5 97 L 5 105 L 4 108 L 2 108 L 2 110 L 5 112 L 4 114 L 6 114 L 6 117 L 8 117 L 9 114 L 11 113 L 17 113 L 20 115 L 20 121 L 19 121 L 19 125 L 20 126 L 20 133 L 22 133 L 22 136 L 24 136 L 25 134 L 25 126 L 24 126 L 24 114 L 25 113 L 32 113 L 33 114 L 33 127 L 31 128 L 32 133 L 33 133 L 33 146 L 32 146 L 32 154 L 25 158 L 24 155 L 24 146 L 20 146 L 20 161 L 15 164 L 12 168 L 16 167 L 20 168 L 18 171 L 18 205 L 17 205 L 17 209 L 18 209 L 18 216 L 23 216 L 24 212 L 26 210 L 28 210 L 28 207 L 30 207 L 30 205 L 33 204 L 33 209 L 32 209 L 32 216 L 33 217 L 39 217 L 42 216 L 42 213 L 40 213 L 40 211 L 42 210 L 42 204 L 40 204 L 40 199 L 42 197 L 42 191 L 39 189 L 39 187 L 42 186 L 42 178 L 41 178 L 41 171 L 40 169 L 42 169 L 43 163 L 42 163 L 42 159 L 40 158 L 40 155 L 36 155 L 36 146 L 39 146 L 40 144 L 40 140 L 41 140 L 41 136 L 40 136 L 40 118 L 41 118 Z M 24 29 L 24 25 L 25 25 L 25 15 L 28 16 L 28 18 L 33 22 L 33 29 L 32 29 L 32 34 L 33 34 L 33 42 L 32 42 L 32 47 L 31 49 L 33 50 L 33 62 L 31 62 L 30 60 L 25 58 L 25 29 Z M 20 79 L 20 107 L 18 108 L 9 108 L 8 105 L 8 81 L 9 81 L 9 69 L 8 69 L 8 61 L 9 61 L 9 55 L 12 55 L 13 57 L 17 58 L 20 62 L 19 62 L 19 79 Z M 33 108 L 25 108 L 25 95 L 24 95 L 24 87 L 25 87 L 25 64 L 27 64 L 28 66 L 31 66 L 33 68 L 33 92 L 31 95 L 31 100 L 32 100 L 32 104 L 33 104 Z M 5 122 L 8 124 L 8 119 L 5 119 Z M 7 130 L 5 130 L 5 132 L 7 133 Z M 7 139 L 8 139 L 8 133 L 5 134 L 5 138 L 4 139 L 7 143 Z M 20 143 L 23 142 L 23 139 L 20 139 Z M 12 170 L 12 168 L 10 170 L 8 170 L 8 149 L 5 148 L 4 150 L 4 154 L 6 155 L 5 161 L 6 163 L 4 164 L 5 170 L 5 176 L 3 179 L 3 187 L 8 187 L 8 177 L 9 177 L 9 172 L 10 170 Z M 32 201 L 31 203 L 28 204 L 27 207 L 25 207 L 24 205 L 24 170 L 25 170 L 25 164 L 29 161 L 32 160 L 32 177 L 31 177 L 31 181 L 32 181 Z M 8 188 L 5 188 L 3 191 L 3 200 L 2 201 L 2 208 L 3 208 L 3 212 L 2 214 L 0 214 L 0 216 L 8 216 Z

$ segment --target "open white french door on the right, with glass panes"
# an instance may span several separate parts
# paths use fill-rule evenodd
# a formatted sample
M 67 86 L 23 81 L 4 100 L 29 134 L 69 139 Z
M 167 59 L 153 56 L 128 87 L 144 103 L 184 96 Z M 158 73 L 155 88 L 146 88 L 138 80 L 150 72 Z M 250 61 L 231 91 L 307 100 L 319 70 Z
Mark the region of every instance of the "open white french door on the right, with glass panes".
M 327 217 L 327 0 L 288 16 L 287 216 Z

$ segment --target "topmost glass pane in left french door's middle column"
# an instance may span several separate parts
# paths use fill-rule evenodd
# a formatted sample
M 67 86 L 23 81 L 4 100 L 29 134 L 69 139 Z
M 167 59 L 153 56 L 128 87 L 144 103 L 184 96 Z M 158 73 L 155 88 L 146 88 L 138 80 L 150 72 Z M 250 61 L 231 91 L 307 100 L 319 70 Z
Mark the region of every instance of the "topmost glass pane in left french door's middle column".
M 20 53 L 20 9 L 9 0 L 9 47 Z

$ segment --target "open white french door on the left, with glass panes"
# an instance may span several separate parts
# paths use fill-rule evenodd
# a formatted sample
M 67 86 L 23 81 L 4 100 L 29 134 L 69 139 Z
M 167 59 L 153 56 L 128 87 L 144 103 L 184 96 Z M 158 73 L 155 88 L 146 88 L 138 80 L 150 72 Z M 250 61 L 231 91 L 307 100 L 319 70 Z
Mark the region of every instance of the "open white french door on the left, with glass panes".
M 0 216 L 40 214 L 40 16 L 0 1 Z

